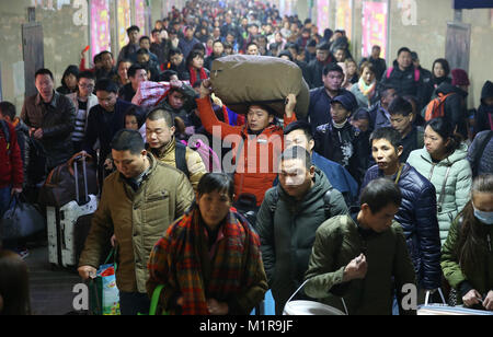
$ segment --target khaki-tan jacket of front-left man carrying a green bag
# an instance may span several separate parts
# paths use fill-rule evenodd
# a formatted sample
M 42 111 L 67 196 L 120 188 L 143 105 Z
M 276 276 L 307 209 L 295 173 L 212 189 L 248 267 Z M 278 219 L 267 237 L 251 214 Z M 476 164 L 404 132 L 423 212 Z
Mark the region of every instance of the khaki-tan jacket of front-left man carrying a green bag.
M 151 154 L 150 171 L 137 191 L 118 172 L 104 181 L 103 194 L 79 266 L 99 268 L 113 233 L 117 241 L 116 283 L 124 292 L 146 292 L 150 252 L 168 226 L 192 205 L 194 191 L 179 170 Z

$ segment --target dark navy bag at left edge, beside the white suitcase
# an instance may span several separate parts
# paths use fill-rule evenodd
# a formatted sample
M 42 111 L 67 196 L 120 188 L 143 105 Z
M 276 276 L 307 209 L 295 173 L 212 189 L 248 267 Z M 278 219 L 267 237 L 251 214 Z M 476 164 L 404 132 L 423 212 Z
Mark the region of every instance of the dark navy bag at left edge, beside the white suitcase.
M 9 209 L 1 219 L 1 237 L 16 240 L 31 236 L 46 228 L 45 218 L 31 204 L 18 195 L 12 196 Z

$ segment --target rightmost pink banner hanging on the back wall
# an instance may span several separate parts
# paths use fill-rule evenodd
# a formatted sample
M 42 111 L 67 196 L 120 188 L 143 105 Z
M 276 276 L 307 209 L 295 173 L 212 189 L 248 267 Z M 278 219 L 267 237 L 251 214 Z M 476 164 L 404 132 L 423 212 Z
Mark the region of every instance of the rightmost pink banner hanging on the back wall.
M 387 2 L 363 2 L 363 57 L 371 55 L 375 45 L 381 48 L 381 58 L 387 56 Z

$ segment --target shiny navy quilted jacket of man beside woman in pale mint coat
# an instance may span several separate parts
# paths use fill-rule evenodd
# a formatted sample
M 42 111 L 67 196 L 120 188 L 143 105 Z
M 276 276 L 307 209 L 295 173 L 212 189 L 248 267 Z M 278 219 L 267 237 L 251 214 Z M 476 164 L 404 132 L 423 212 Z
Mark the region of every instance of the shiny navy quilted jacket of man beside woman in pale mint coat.
M 382 176 L 383 172 L 377 165 L 370 167 L 362 189 L 370 181 Z M 435 187 L 410 164 L 404 165 L 398 185 L 402 202 L 395 221 L 404 230 L 417 282 L 424 289 L 436 289 L 440 287 L 442 268 Z

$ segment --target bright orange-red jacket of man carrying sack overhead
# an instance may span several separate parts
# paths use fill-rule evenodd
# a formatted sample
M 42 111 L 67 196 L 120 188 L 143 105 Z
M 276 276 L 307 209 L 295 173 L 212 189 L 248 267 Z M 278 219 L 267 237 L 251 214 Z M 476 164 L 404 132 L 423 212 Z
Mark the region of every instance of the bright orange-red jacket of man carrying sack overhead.
M 241 194 L 252 194 L 256 197 L 256 205 L 260 206 L 264 200 L 265 191 L 272 187 L 277 176 L 277 161 L 284 149 L 283 128 L 273 125 L 265 128 L 259 136 L 249 135 L 246 126 L 230 126 L 220 121 L 213 111 L 209 97 L 196 101 L 202 124 L 207 132 L 215 135 L 214 130 L 217 129 L 220 131 L 220 139 L 228 138 L 233 143 L 233 158 L 237 163 L 234 173 L 237 199 Z M 285 117 L 284 126 L 293 121 L 296 121 L 296 114 L 293 114 L 291 118 Z M 233 135 L 239 137 L 234 139 Z M 242 146 L 241 139 L 243 139 Z M 239 149 L 241 153 L 237 155 Z M 230 173 L 226 166 L 227 159 L 228 154 L 225 156 L 222 166 L 226 173 Z

